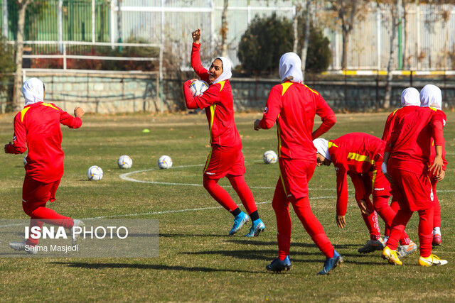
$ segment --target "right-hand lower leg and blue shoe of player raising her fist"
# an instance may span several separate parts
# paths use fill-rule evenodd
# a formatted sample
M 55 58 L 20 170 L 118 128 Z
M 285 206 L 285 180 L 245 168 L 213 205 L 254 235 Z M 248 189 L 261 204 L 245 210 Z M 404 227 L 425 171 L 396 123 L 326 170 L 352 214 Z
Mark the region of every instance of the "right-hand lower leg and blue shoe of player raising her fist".
M 228 179 L 232 188 L 237 192 L 237 195 L 240 197 L 243 206 L 247 210 L 247 213 L 250 215 L 252 226 L 250 231 L 245 235 L 249 237 L 259 236 L 261 231 L 264 231 L 265 225 L 261 219 L 259 219 L 259 214 L 257 212 L 257 206 L 255 203 L 255 198 L 251 192 L 250 187 L 248 187 L 247 182 L 243 175 L 233 176 L 228 175 Z

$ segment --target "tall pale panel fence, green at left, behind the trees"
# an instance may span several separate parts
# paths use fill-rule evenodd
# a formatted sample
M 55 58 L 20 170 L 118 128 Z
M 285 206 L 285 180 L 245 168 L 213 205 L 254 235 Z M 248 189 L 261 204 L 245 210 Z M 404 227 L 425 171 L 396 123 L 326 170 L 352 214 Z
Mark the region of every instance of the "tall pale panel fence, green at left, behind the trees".
M 323 26 L 331 40 L 333 60 L 330 69 L 341 68 L 341 29 L 339 20 L 328 9 L 327 1 L 312 1 L 314 23 Z M 228 55 L 234 66 L 242 33 L 255 16 L 291 19 L 299 1 L 231 0 L 228 7 Z M 15 1 L 1 4 L 2 33 L 15 38 Z M 174 66 L 189 67 L 191 31 L 203 31 L 203 59 L 209 61 L 220 52 L 223 0 L 48 0 L 36 1 L 27 13 L 26 40 L 73 40 L 85 42 L 144 40 L 166 47 Z M 390 6 L 375 3 L 365 6 L 350 34 L 348 68 L 384 70 L 390 56 L 392 20 Z M 395 42 L 395 67 L 407 70 L 455 69 L 455 6 L 407 4 L 401 35 Z M 50 46 L 46 46 L 49 48 Z M 74 46 L 77 48 L 77 46 Z M 38 51 L 38 50 L 36 50 Z M 33 53 L 36 54 L 33 50 Z M 43 52 L 54 52 L 53 48 Z M 61 49 L 59 50 L 61 53 Z M 41 50 L 40 50 L 41 52 Z M 399 60 L 400 59 L 400 60 Z M 402 60 L 403 59 L 403 60 Z

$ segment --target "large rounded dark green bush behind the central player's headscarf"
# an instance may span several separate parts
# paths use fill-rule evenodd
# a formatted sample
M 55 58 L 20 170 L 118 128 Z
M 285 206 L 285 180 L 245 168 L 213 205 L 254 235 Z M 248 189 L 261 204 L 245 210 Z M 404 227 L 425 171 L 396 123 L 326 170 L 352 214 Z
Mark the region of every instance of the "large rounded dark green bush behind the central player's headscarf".
M 306 27 L 305 19 L 298 19 L 299 31 L 297 49 L 304 45 Z M 287 19 L 272 15 L 266 18 L 256 17 L 247 31 L 240 38 L 237 56 L 242 63 L 242 69 L 247 72 L 274 72 L 277 70 L 279 58 L 293 50 L 293 25 Z M 331 62 L 330 42 L 324 37 L 321 29 L 309 26 L 308 55 L 306 56 L 306 70 L 322 72 L 327 70 Z

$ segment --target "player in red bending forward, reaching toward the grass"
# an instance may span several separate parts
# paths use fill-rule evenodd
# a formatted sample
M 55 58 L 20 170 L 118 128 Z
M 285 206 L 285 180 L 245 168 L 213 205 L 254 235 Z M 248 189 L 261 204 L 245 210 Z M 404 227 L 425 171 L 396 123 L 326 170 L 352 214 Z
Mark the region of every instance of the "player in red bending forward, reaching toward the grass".
M 348 133 L 335 140 L 326 141 L 323 138 L 314 140 L 317 149 L 318 164 L 333 166 L 336 170 L 336 224 L 339 228 L 346 225 L 345 215 L 348 207 L 348 175 L 355 188 L 355 200 L 362 211 L 363 220 L 370 231 L 370 240 L 358 249 L 359 253 L 371 253 L 382 250 L 385 246 L 380 238 L 378 216 L 385 225 L 392 224 L 395 211 L 389 206 L 390 184 L 382 174 L 382 157 L 385 141 L 368 133 Z M 373 203 L 370 196 L 373 195 Z M 406 233 L 400 239 L 402 256 L 417 250 L 414 242 Z

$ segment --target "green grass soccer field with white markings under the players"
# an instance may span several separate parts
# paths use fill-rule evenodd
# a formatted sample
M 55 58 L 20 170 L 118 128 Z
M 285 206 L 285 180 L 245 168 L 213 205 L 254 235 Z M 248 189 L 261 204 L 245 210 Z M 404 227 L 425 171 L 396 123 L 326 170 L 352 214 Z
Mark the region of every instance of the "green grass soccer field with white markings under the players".
M 387 114 L 337 114 L 336 125 L 323 137 L 332 139 L 350 132 L 381 137 Z M 245 155 L 245 180 L 266 225 L 257 238 L 243 236 L 247 226 L 235 236 L 228 236 L 232 215 L 202 187 L 203 165 L 210 151 L 205 115 L 88 114 L 82 119 L 82 128 L 63 128 L 65 175 L 58 200 L 48 206 L 75 219 L 157 219 L 159 257 L 0 258 L 0 301 L 454 302 L 455 113 L 446 114 L 444 137 L 449 166 L 445 179 L 438 184 L 443 243 L 433 251 L 448 260 L 448 265 L 422 268 L 417 265 L 418 251 L 403 258 L 403 266 L 389 265 L 379 251 L 360 255 L 357 250 L 368 240 L 368 229 L 350 182 L 347 226 L 336 226 L 336 174 L 331 165 L 316 167 L 309 183 L 310 201 L 328 238 L 343 255 L 343 265 L 331 275 L 316 276 L 325 258 L 291 210 L 293 267 L 285 273 L 267 272 L 265 265 L 277 257 L 277 226 L 271 200 L 279 167 L 262 162 L 264 151 L 277 149 L 275 127 L 253 130 L 253 121 L 262 114 L 235 115 Z M 12 114 L 0 116 L 2 144 L 11 141 L 13 119 Z M 319 123 L 318 118 L 316 121 Z M 144 128 L 150 132 L 143 133 Z M 132 158 L 132 168 L 119 169 L 120 155 Z M 161 155 L 171 156 L 171 169 L 158 169 L 156 161 Z M 23 155 L 0 155 L 1 219 L 28 218 L 21 206 L 22 159 Z M 92 165 L 102 167 L 102 180 L 87 180 L 86 171 Z M 228 180 L 220 184 L 240 204 Z M 417 224 L 418 216 L 414 214 L 407 232 L 418 244 Z M 380 228 L 384 230 L 381 220 Z

